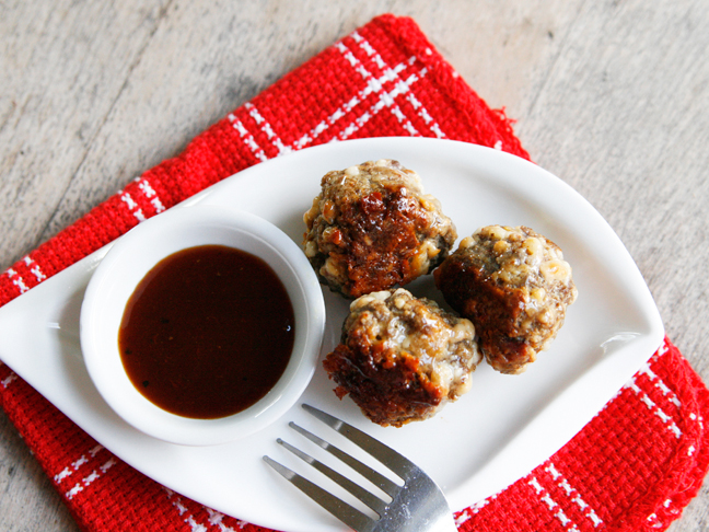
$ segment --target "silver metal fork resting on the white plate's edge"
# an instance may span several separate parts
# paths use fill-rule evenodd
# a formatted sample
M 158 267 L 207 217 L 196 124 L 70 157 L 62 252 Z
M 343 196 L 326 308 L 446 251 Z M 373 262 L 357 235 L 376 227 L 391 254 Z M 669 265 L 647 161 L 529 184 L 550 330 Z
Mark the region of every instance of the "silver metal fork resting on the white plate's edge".
M 384 466 L 400 477 L 404 484 L 399 485 L 392 482 L 377 471 L 295 425 L 293 421 L 289 424 L 290 427 L 372 482 L 386 493 L 392 500 L 382 500 L 349 478 L 279 438 L 276 440 L 278 443 L 339 484 L 371 508 L 379 516 L 379 519 L 367 516 L 364 512 L 271 460 L 269 456 L 264 456 L 266 463 L 286 479 L 290 481 L 301 491 L 357 532 L 454 532 L 457 530 L 443 491 L 416 464 L 351 425 L 310 405 L 304 404 L 302 406 L 314 417 L 337 430 L 340 435 L 379 460 Z

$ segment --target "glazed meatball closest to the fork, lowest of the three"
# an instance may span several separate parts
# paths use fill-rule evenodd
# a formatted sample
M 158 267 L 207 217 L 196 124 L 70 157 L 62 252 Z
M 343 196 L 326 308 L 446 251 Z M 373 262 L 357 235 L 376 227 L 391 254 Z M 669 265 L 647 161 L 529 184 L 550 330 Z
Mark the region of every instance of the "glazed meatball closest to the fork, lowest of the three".
M 468 320 L 399 288 L 350 304 L 324 367 L 339 398 L 349 393 L 372 421 L 400 427 L 467 392 L 481 359 Z

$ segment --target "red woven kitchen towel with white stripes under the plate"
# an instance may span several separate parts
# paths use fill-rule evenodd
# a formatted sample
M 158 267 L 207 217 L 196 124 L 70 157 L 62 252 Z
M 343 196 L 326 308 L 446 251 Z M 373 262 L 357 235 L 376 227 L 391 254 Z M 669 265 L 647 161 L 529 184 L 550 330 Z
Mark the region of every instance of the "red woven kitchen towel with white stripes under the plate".
M 449 138 L 528 158 L 504 114 L 477 96 L 414 21 L 383 15 L 1 274 L 0 304 L 252 164 L 332 140 L 382 136 Z M 503 491 L 458 512 L 460 530 L 664 530 L 704 481 L 708 401 L 698 375 L 666 339 L 559 452 Z M 83 530 L 264 530 L 132 470 L 1 362 L 0 404 Z

